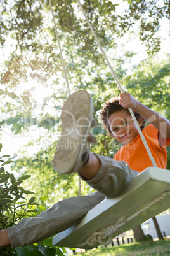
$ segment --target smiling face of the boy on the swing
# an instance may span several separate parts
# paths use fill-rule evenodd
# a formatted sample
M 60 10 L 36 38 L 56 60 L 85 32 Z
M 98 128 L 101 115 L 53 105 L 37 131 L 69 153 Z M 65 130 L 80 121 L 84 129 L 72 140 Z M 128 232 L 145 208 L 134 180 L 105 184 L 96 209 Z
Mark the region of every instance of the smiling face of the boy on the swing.
M 143 120 L 138 120 L 138 124 L 142 125 Z M 131 114 L 126 110 L 112 113 L 108 118 L 108 124 L 117 141 L 123 144 L 129 144 L 138 136 L 138 130 L 134 124 Z

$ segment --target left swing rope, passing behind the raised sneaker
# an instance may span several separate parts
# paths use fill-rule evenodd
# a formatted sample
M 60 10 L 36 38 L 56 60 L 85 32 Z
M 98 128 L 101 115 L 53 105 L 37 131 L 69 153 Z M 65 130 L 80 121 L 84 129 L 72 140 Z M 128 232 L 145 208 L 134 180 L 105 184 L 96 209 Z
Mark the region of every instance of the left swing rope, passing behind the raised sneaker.
M 69 82 L 68 82 L 68 79 L 67 79 L 67 73 L 66 73 L 66 69 L 65 69 L 64 60 L 63 60 L 62 48 L 60 46 L 60 39 L 59 39 L 59 36 L 58 36 L 58 31 L 57 31 L 56 22 L 55 22 L 55 15 L 53 13 L 51 0 L 49 0 L 49 5 L 50 5 L 50 8 L 51 8 L 51 13 L 53 15 L 53 22 L 54 22 L 54 26 L 55 26 L 55 34 L 56 34 L 56 39 L 58 41 L 58 47 L 59 47 L 59 50 L 60 50 L 60 57 L 62 59 L 62 66 L 63 66 L 64 76 L 65 76 L 65 82 L 66 82 L 67 90 L 68 90 L 69 96 L 70 96 Z M 79 196 L 81 196 L 81 177 L 80 176 L 79 176 Z

